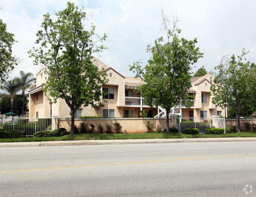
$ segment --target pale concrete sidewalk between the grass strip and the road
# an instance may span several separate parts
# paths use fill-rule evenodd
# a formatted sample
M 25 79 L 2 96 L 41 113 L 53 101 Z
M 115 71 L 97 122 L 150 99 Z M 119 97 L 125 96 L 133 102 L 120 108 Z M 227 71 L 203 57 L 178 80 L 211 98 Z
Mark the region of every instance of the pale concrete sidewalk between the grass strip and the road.
M 109 145 L 109 144 L 158 144 L 187 142 L 252 142 L 256 138 L 175 138 L 175 139 L 135 139 L 135 140 L 73 140 L 43 142 L 2 142 L 0 147 L 19 146 L 64 146 L 64 145 Z

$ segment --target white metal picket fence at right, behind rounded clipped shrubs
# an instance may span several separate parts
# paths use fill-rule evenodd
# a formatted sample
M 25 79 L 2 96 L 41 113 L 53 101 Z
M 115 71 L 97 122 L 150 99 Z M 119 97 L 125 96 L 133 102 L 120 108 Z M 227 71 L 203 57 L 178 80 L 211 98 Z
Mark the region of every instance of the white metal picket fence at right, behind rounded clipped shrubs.
M 225 118 L 179 118 L 177 123 L 179 133 L 186 128 L 197 128 L 199 133 L 205 133 L 208 128 L 222 128 L 226 133 Z

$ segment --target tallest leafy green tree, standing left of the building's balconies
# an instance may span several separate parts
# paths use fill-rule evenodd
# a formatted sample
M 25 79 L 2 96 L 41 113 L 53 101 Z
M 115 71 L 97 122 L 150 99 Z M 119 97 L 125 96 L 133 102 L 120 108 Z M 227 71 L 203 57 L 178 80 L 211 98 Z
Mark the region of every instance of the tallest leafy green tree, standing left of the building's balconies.
M 44 15 L 43 30 L 37 33 L 39 49 L 30 50 L 30 57 L 35 57 L 35 64 L 44 64 L 48 76 L 43 91 L 48 92 L 48 99 L 57 102 L 58 98 L 66 101 L 71 114 L 71 134 L 74 134 L 74 114 L 81 106 L 102 104 L 102 84 L 107 82 L 106 72 L 98 70 L 92 61 L 92 54 L 101 52 L 104 46 L 97 42 L 106 39 L 95 33 L 95 26 L 84 30 L 83 21 L 87 18 L 83 9 L 78 10 L 74 3 L 67 3 L 67 8 L 56 13 L 55 22 L 50 14 Z

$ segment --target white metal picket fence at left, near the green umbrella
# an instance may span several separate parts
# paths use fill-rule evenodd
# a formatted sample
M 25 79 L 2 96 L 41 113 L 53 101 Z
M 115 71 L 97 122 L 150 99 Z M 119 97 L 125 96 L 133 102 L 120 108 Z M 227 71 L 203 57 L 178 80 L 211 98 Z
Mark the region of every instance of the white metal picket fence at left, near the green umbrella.
M 37 131 L 54 130 L 54 118 L 30 118 L 18 116 L 1 116 L 0 129 L 26 131 L 26 136 L 33 136 Z

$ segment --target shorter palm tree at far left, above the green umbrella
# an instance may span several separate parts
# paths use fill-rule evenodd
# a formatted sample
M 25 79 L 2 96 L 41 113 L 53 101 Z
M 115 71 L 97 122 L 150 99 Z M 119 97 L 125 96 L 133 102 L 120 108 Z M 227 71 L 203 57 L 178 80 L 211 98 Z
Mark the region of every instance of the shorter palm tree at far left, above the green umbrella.
M 19 84 L 16 79 L 5 81 L 0 88 L 11 96 L 11 112 L 13 113 L 13 96 L 19 91 Z

